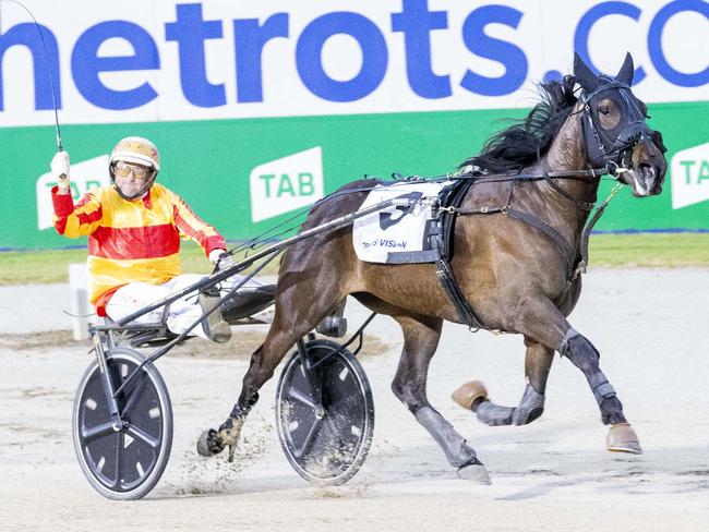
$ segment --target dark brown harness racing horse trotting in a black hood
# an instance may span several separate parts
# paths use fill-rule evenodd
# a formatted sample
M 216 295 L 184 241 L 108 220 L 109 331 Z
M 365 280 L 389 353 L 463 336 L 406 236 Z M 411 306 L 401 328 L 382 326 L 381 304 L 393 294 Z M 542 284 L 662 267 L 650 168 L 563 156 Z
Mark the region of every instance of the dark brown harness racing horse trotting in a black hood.
M 497 133 L 481 155 L 461 166 L 472 165 L 481 174 L 468 180 L 471 184 L 459 204 L 450 268 L 480 323 L 522 335 L 527 347 L 528 385 L 516 408 L 491 403 L 479 384 L 469 383 L 456 392 L 456 400 L 477 410 L 488 424 L 520 425 L 542 413 L 546 377 L 558 351 L 586 376 L 602 422 L 611 425 L 609 448 L 640 450 L 600 368 L 599 352 L 566 321 L 581 289 L 574 270 L 600 176 L 615 174 L 638 197 L 662 190 L 664 146 L 659 132 L 646 123 L 647 107 L 630 89 L 633 73 L 629 55 L 615 77 L 596 75 L 576 56 L 573 76 L 542 84 L 542 100 L 529 116 Z M 580 86 L 578 97 L 575 84 Z M 357 210 L 366 196 L 362 189 L 374 184 L 366 180 L 345 185 L 310 211 L 302 229 Z M 510 216 L 513 211 L 521 215 Z M 442 288 L 433 264 L 361 262 L 351 231 L 338 229 L 287 249 L 271 329 L 251 358 L 229 418 L 218 431 L 203 435 L 206 444 L 200 452 L 218 454 L 228 446 L 233 454 L 259 390 L 278 363 L 352 295 L 401 327 L 404 349 L 392 383 L 396 397 L 433 436 L 459 476 L 488 483 L 476 451 L 426 398 L 429 363 L 443 322 L 465 323 L 458 306 Z

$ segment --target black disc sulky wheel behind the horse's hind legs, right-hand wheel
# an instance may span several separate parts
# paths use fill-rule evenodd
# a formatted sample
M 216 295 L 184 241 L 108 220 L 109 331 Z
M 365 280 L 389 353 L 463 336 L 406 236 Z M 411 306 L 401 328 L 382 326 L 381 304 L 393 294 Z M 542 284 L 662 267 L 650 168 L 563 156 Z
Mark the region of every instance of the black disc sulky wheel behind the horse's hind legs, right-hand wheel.
M 339 344 L 305 343 L 311 365 Z M 362 467 L 372 443 L 374 401 L 366 375 L 347 350 L 313 370 L 310 379 L 296 351 L 286 363 L 276 392 L 276 426 L 286 458 L 303 479 L 343 484 Z M 310 382 L 309 382 L 310 380 Z M 322 390 L 322 408 L 313 400 Z

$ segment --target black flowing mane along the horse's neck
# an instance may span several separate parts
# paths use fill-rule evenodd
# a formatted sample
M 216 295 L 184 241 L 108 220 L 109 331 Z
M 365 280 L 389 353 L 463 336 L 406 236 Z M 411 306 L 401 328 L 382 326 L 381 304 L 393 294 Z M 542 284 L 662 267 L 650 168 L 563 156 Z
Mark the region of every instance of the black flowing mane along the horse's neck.
M 461 167 L 472 165 L 489 172 L 520 172 L 544 155 L 578 98 L 574 95 L 576 78 L 539 84 L 541 101 L 509 128 L 488 138 L 482 153 L 468 158 Z

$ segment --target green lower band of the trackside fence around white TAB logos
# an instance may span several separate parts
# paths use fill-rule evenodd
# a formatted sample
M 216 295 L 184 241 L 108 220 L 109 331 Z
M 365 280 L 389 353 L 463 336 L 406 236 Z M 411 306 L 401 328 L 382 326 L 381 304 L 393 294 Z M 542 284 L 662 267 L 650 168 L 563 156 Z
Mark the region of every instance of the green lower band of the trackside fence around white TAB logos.
M 227 239 L 239 240 L 273 227 L 287 216 L 252 221 L 250 176 L 254 168 L 268 161 L 320 147 L 324 193 L 363 174 L 436 176 L 454 170 L 468 156 L 477 154 L 491 133 L 505 126 L 506 122 L 498 119 L 525 113 L 483 110 L 65 125 L 62 137 L 72 164 L 106 156 L 122 136 L 154 140 L 164 161 L 159 181 L 181 194 Z M 696 189 L 697 197 L 709 190 L 709 154 L 706 149 L 694 149 L 709 143 L 709 104 L 653 105 L 650 114 L 650 124 L 664 134 L 668 161 L 686 150 L 693 159 L 675 161 L 675 174 L 680 169 L 682 176 L 673 180 L 669 171 L 660 196 L 638 200 L 624 190 L 598 230 L 709 230 L 709 201 L 698 200 L 681 208 L 673 208 L 672 202 L 673 186 L 682 186 L 685 195 L 692 195 Z M 37 195 L 48 195 L 49 184 L 37 183 L 48 171 L 56 149 L 53 140 L 52 128 L 0 129 L 0 249 L 81 244 L 57 235 L 51 227 L 38 228 Z M 308 203 L 308 196 L 316 197 L 309 171 L 293 167 L 289 172 L 257 178 L 267 186 L 268 196 L 292 196 L 293 204 Z M 611 184 L 604 182 L 599 196 Z

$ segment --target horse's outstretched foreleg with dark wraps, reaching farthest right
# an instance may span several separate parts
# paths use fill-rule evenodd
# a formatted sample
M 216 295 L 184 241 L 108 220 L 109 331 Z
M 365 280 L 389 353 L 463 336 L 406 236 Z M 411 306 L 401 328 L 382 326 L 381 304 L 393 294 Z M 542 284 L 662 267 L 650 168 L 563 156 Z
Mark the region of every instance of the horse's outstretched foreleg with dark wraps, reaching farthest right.
M 612 425 L 606 442 L 609 450 L 640 452 L 637 436 L 623 414 L 623 404 L 601 371 L 598 350 L 568 324 L 551 301 L 536 300 L 524 305 L 515 328 L 550 349 L 555 348 L 584 373 L 601 410 L 601 420 Z

